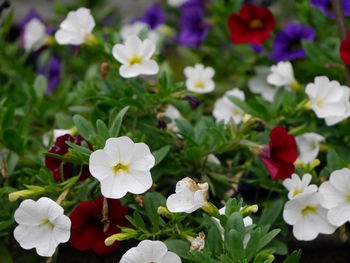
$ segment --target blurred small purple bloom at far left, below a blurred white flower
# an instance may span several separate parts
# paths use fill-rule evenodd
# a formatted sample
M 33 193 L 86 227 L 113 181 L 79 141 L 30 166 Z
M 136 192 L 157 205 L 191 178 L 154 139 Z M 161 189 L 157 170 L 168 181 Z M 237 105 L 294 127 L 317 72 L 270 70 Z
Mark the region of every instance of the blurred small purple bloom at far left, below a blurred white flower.
M 39 74 L 47 78 L 48 88 L 46 93 L 51 94 L 61 81 L 61 59 L 57 56 L 52 56 L 47 65 L 42 65 L 39 68 Z

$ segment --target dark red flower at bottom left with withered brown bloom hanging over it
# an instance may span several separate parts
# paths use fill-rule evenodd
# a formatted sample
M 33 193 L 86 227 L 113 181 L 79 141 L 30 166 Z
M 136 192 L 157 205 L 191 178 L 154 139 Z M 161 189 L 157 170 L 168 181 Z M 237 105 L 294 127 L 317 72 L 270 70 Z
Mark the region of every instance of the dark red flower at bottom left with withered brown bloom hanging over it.
M 102 222 L 103 196 L 94 201 L 80 203 L 70 214 L 72 221 L 70 244 L 78 250 L 93 249 L 97 254 L 107 254 L 114 250 L 119 242 L 106 246 L 107 237 L 119 233 L 119 226 L 127 226 L 129 222 L 125 215 L 128 208 L 123 206 L 118 199 L 107 199 L 108 221 Z

